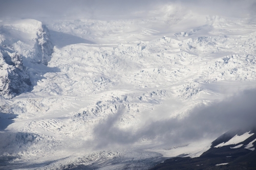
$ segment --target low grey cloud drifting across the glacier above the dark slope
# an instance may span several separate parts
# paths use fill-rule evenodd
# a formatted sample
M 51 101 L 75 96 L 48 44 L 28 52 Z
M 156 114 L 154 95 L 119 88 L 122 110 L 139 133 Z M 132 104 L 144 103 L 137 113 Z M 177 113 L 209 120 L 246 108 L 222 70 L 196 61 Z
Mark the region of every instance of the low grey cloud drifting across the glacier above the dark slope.
M 157 143 L 180 144 L 218 137 L 229 130 L 251 129 L 256 123 L 256 89 L 246 90 L 222 102 L 195 108 L 188 116 L 145 123 L 138 130 L 115 126 L 124 109 L 94 129 L 97 147 L 133 144 L 142 138 Z

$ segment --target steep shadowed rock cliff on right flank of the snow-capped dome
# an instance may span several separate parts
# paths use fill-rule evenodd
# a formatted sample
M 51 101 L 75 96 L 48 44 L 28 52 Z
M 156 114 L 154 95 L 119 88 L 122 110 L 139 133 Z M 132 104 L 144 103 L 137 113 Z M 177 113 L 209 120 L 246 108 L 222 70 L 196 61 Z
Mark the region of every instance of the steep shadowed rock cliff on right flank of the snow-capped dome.
M 42 59 L 42 64 L 48 65 L 53 53 L 53 45 L 50 40 L 50 32 L 45 25 L 41 25 L 37 31 L 37 43 L 39 46 L 39 53 Z

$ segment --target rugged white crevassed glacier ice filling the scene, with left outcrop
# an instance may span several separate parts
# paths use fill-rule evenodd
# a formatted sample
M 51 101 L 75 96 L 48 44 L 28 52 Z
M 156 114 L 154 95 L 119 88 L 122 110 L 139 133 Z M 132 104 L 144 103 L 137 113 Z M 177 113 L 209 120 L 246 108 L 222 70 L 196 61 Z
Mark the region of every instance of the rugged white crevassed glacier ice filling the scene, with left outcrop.
M 1 126 L 0 166 L 147 169 L 161 154 L 206 151 L 212 140 L 174 145 L 142 136 L 120 146 L 96 134 L 100 125 L 136 131 L 182 119 L 256 86 L 255 17 L 165 11 L 147 19 L 0 22 L 0 117 L 10 120 Z

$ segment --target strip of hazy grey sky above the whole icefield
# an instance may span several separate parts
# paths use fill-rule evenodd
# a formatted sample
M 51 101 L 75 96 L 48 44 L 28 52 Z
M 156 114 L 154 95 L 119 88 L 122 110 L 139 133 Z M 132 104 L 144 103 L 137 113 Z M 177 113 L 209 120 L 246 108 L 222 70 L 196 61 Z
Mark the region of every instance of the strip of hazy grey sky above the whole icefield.
M 180 5 L 209 15 L 246 16 L 255 13 L 255 0 L 1 0 L 0 17 L 58 18 L 87 17 L 100 15 L 144 17 L 150 10 L 167 4 Z

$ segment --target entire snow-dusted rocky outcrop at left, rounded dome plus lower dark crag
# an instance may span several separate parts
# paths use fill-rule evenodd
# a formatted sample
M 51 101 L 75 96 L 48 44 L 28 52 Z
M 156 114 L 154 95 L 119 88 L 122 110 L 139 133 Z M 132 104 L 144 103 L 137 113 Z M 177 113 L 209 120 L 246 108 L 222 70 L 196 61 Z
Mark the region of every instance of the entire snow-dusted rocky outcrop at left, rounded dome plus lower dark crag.
M 27 69 L 34 64 L 48 65 L 52 53 L 50 32 L 40 21 L 4 23 L 0 27 L 0 95 L 11 99 L 29 91 L 32 83 Z

